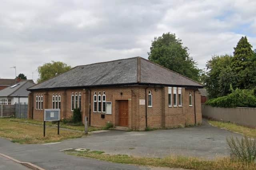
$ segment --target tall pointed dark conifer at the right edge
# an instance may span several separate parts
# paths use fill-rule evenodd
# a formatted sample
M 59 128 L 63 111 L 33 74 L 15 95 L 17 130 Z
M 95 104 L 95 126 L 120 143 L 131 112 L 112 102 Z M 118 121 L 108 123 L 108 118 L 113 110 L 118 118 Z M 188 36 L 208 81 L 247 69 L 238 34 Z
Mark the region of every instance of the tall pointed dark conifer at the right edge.
M 246 36 L 242 37 L 234 47 L 234 57 L 231 62 L 232 71 L 237 78 L 234 88 L 252 89 L 255 87 L 256 61 L 254 58 L 252 45 Z

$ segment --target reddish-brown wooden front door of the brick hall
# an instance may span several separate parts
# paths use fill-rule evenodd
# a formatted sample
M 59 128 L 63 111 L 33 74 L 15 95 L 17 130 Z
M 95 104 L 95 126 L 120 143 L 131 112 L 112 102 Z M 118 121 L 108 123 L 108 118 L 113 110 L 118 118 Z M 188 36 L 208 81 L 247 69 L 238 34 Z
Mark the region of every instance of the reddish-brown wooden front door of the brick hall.
M 128 127 L 128 100 L 120 100 L 119 101 L 119 126 Z

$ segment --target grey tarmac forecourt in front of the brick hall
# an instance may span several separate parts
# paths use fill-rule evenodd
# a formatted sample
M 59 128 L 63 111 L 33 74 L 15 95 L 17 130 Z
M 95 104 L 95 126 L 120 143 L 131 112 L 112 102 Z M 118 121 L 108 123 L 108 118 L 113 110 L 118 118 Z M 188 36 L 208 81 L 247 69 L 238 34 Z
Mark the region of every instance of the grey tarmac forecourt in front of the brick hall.
M 49 145 L 52 149 L 86 148 L 109 154 L 164 157 L 168 155 L 214 158 L 228 156 L 226 137 L 241 135 L 213 127 L 204 120 L 202 126 L 156 131 L 109 131 L 89 137 Z

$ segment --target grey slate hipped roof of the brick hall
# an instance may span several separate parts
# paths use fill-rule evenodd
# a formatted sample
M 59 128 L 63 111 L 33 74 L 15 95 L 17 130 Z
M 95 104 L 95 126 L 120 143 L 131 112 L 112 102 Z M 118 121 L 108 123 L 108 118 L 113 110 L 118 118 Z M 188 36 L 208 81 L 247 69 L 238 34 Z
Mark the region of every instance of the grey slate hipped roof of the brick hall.
M 202 84 L 163 66 L 141 57 L 133 57 L 76 66 L 28 90 L 124 84 L 203 87 Z

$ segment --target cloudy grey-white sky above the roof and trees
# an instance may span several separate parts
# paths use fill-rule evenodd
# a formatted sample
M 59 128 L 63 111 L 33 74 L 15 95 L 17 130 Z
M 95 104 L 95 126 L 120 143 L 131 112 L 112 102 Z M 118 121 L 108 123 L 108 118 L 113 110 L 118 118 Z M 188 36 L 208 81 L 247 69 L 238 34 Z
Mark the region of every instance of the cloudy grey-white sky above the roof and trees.
M 233 54 L 242 36 L 256 49 L 255 0 L 1 0 L 0 78 L 62 61 L 76 66 L 148 58 L 151 41 L 175 33 L 205 64 Z

